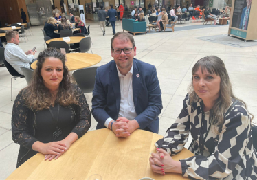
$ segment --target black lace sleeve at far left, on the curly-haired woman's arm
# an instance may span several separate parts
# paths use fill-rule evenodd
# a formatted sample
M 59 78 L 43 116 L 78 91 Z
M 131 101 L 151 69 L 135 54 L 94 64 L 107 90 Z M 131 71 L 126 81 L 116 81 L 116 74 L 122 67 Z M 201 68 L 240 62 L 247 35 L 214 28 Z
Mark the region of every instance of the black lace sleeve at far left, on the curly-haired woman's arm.
M 12 109 L 12 140 L 21 146 L 32 149 L 32 144 L 37 139 L 30 134 L 28 116 L 30 109 L 25 106 L 21 93 L 17 95 Z

